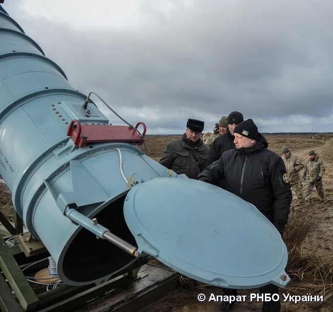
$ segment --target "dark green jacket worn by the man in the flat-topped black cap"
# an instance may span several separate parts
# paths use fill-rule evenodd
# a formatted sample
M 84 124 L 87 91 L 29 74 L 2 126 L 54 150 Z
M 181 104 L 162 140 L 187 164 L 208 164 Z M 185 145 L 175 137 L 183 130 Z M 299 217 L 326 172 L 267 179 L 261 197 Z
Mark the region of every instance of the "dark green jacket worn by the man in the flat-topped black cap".
M 186 138 L 186 133 L 182 135 L 181 139 L 173 140 L 166 144 L 159 163 L 177 174 L 185 174 L 189 178 L 196 179 L 202 170 L 200 170 L 190 150 L 200 161 L 200 167 L 203 170 L 206 165 L 209 148 L 203 144 L 201 139 L 197 143 L 192 142 Z

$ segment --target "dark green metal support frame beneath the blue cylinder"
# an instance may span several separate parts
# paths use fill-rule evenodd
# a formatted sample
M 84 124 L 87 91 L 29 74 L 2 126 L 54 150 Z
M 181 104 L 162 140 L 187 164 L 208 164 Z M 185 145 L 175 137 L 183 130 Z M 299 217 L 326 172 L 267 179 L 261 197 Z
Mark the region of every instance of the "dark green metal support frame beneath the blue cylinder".
M 1 216 L 4 217 L 2 214 Z M 17 234 L 22 226 L 22 220 L 20 222 L 18 218 L 16 219 L 18 222 L 15 224 L 18 227 L 15 228 L 8 221 L 10 225 L 7 229 L 8 236 Z M 1 218 L 1 221 L 3 220 L 4 218 Z M 7 222 L 2 223 L 8 225 Z M 5 231 L 2 232 L 2 234 L 5 233 Z M 6 237 L 0 236 L 0 310 L 2 312 L 55 312 L 60 309 L 64 312 L 69 311 L 89 300 L 105 295 L 114 288 L 132 283 L 139 268 L 148 261 L 147 257 L 139 258 L 131 266 L 117 273 L 117 276 L 100 285 L 60 285 L 37 294 L 27 281 L 22 269 L 38 258 L 44 259 L 48 253 L 42 248 L 40 254 L 33 253 L 32 256 L 27 257 L 27 253 L 24 253 L 19 245 L 8 246 L 4 239 Z

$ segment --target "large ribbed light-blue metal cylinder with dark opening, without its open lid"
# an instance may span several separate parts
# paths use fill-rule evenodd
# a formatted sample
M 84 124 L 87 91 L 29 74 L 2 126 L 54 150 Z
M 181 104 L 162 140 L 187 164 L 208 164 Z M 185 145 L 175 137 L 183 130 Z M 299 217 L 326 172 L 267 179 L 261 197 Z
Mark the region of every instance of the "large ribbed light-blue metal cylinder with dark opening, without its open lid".
M 78 148 L 67 135 L 71 121 L 112 127 L 108 118 L 91 101 L 87 116 L 87 95 L 4 10 L 0 43 L 0 174 L 15 210 L 57 262 L 61 280 L 100 283 L 136 258 L 96 235 L 109 229 L 135 245 L 122 213 L 124 197 L 132 181 L 168 176 L 168 170 L 134 143 Z

